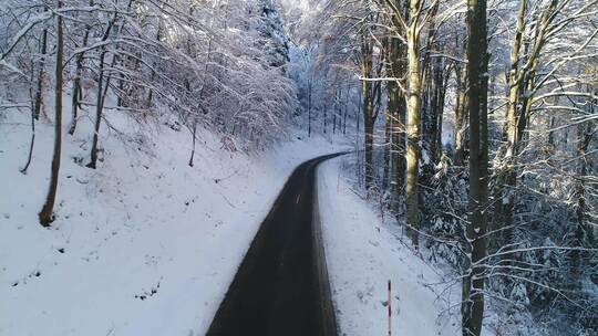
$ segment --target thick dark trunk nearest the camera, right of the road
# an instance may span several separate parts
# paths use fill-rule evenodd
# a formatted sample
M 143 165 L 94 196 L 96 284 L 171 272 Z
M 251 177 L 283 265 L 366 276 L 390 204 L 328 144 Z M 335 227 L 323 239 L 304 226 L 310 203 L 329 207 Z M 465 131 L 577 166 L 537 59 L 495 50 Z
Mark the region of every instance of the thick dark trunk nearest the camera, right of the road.
M 488 188 L 486 0 L 467 0 L 467 76 L 470 83 L 470 223 L 466 251 L 471 265 L 462 298 L 463 335 L 480 336 L 484 317 L 484 265 Z

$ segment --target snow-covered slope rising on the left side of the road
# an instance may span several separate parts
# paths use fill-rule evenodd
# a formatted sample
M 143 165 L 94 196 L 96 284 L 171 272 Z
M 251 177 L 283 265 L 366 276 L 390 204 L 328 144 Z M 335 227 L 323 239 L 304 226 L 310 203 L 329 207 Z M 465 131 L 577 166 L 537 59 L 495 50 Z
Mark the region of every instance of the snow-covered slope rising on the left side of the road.
M 84 167 L 91 120 L 63 133 L 50 229 L 38 212 L 53 128 L 38 123 L 22 175 L 28 117 L 1 120 L 0 335 L 203 335 L 295 166 L 342 147 L 312 138 L 247 155 L 202 130 L 192 168 L 188 132 L 109 120 L 127 133 L 103 126 L 96 170 Z

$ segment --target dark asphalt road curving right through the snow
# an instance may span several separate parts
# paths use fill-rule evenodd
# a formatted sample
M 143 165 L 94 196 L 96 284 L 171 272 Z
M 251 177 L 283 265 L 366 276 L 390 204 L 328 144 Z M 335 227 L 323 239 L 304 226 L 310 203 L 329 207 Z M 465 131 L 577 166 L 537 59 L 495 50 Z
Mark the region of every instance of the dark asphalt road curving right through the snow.
M 337 327 L 313 221 L 316 167 L 300 165 L 262 222 L 209 327 L 209 336 L 336 335 Z

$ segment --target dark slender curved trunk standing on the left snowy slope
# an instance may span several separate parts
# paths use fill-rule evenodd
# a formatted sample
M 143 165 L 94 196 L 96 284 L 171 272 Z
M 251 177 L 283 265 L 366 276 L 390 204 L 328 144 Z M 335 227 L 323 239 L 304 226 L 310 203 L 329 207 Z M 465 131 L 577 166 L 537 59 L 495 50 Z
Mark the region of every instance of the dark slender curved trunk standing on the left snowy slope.
M 62 2 L 56 1 L 56 7 L 61 8 Z M 54 154 L 52 157 L 52 171 L 50 177 L 50 188 L 48 189 L 48 197 L 45 203 L 39 213 L 40 224 L 42 227 L 50 227 L 53 221 L 52 211 L 54 209 L 54 202 L 56 199 L 58 181 L 60 174 L 60 157 L 62 149 L 62 60 L 63 60 L 63 36 L 62 36 L 62 17 L 56 15 L 56 73 L 55 73 L 55 120 L 54 120 Z

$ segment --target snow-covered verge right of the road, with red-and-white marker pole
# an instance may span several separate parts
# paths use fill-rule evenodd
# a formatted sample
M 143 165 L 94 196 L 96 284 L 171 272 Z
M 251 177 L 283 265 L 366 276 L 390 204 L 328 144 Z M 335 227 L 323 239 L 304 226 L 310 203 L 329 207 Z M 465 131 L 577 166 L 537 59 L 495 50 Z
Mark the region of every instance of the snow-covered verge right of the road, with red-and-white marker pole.
M 341 334 L 388 335 L 390 280 L 392 335 L 460 335 L 460 316 L 447 309 L 460 293 L 436 294 L 432 284 L 442 282 L 437 270 L 403 245 L 398 228 L 383 223 L 351 190 L 339 168 L 347 159 L 352 158 L 340 157 L 318 169 L 320 219 Z

